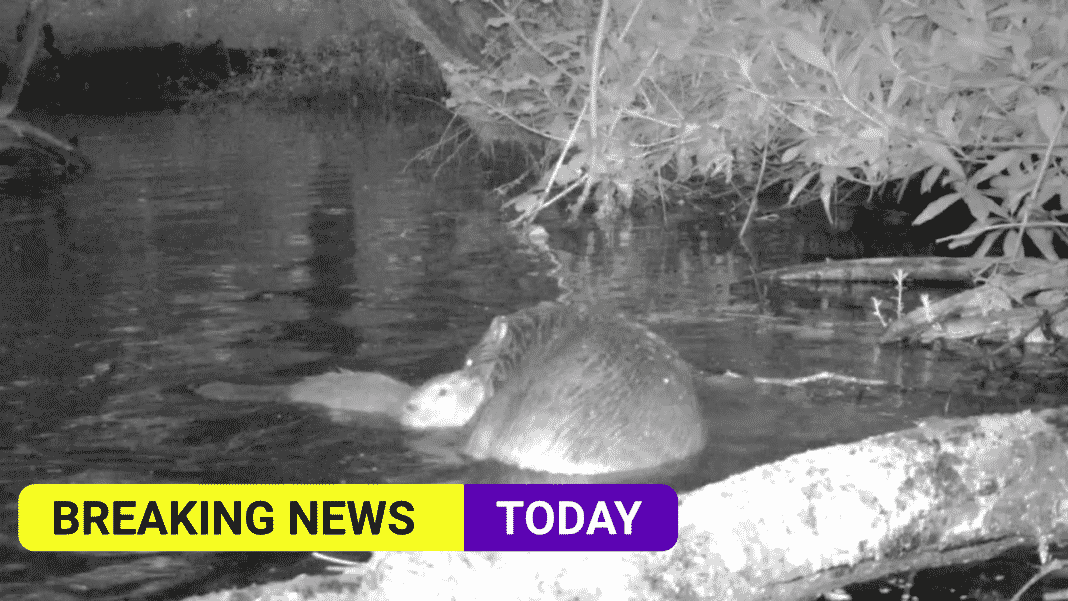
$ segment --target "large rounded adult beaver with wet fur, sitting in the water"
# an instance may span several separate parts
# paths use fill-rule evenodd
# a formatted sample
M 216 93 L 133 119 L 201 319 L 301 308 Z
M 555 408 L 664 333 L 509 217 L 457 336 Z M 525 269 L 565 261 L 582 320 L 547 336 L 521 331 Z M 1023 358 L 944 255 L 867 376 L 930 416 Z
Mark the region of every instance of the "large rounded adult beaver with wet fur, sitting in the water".
M 706 444 L 703 376 L 646 328 L 596 307 L 499 317 L 465 369 L 490 393 L 466 429 L 473 459 L 593 475 L 675 463 Z

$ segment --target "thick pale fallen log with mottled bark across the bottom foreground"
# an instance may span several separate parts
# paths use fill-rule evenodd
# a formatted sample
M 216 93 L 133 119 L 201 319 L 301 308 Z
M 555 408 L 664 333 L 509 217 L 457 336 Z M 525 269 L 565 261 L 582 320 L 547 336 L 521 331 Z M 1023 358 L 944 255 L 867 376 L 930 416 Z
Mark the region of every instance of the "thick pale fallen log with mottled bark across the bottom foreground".
M 934 418 L 796 455 L 682 495 L 662 553 L 376 554 L 358 598 L 800 600 L 1064 541 L 1066 424 Z

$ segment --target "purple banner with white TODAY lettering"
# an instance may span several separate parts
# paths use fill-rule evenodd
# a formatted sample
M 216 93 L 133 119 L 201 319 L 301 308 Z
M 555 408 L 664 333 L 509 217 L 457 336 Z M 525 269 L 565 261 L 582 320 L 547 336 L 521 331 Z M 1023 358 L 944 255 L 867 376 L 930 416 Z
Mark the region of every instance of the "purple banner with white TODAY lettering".
M 666 551 L 666 485 L 464 485 L 465 551 Z

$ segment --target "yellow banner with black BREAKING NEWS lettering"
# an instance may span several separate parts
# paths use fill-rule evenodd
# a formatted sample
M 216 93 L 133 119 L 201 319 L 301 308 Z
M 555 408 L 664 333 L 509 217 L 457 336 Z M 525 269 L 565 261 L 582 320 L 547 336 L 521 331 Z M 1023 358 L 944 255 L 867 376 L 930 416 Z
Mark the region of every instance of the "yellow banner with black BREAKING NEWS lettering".
M 30 551 L 462 551 L 464 485 L 31 485 Z

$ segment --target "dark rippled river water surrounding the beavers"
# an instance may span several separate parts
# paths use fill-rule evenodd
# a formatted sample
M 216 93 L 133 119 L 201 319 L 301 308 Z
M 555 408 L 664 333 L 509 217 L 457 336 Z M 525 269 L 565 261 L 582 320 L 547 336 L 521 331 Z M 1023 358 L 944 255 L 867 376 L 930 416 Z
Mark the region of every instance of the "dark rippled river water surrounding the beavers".
M 395 429 L 190 386 L 339 367 L 418 383 L 457 368 L 493 316 L 565 291 L 648 323 L 710 373 L 888 382 L 748 389 L 758 408 L 723 428 L 686 486 L 1004 408 L 960 383 L 968 360 L 875 343 L 869 297 L 891 289 L 753 285 L 804 248 L 783 223 L 758 226 L 755 255 L 720 217 L 664 226 L 657 211 L 608 230 L 550 223 L 552 252 L 539 249 L 487 191 L 512 174 L 410 162 L 442 124 L 247 107 L 51 124 L 79 135 L 94 169 L 30 206 L 3 199 L 4 598 L 176 598 L 312 569 L 303 554 L 30 554 L 15 500 L 43 481 L 445 478 Z

